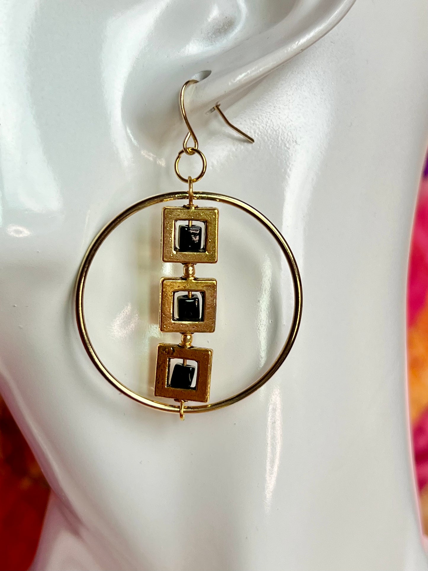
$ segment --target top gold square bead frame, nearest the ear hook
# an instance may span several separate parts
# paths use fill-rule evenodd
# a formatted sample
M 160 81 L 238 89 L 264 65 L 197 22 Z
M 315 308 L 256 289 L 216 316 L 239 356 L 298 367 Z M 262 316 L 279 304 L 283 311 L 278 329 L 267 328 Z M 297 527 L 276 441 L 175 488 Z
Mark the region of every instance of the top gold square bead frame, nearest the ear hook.
M 196 220 L 205 223 L 204 252 L 179 252 L 175 249 L 177 220 Z M 180 264 L 215 264 L 217 262 L 218 229 L 219 211 L 217 208 L 165 206 L 162 224 L 162 260 Z

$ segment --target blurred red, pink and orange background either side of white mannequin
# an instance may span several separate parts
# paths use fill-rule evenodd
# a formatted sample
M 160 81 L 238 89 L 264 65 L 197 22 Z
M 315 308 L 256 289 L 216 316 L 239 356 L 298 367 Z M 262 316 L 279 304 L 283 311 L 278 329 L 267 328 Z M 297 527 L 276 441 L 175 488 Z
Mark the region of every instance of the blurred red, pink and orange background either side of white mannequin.
M 410 422 L 428 534 L 428 162 L 419 189 L 407 288 Z M 5 403 L 0 399 L 0 569 L 25 571 L 42 528 L 49 486 Z

